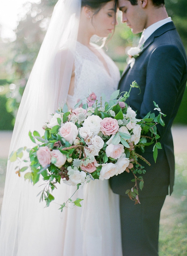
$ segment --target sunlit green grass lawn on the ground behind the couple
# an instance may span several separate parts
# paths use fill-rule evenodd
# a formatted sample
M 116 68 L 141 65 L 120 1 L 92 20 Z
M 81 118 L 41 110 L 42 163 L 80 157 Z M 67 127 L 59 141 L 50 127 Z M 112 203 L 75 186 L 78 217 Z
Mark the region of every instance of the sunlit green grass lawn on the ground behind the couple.
M 187 255 L 187 156 L 176 154 L 175 187 L 161 211 L 159 256 Z M 6 159 L 0 159 L 0 209 Z

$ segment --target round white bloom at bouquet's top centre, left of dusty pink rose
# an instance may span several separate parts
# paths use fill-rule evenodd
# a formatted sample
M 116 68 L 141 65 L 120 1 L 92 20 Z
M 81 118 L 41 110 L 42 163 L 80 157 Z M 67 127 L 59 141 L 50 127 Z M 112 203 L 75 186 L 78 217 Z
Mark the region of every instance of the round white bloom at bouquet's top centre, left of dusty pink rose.
M 84 120 L 83 127 L 90 128 L 90 131 L 93 132 L 93 135 L 98 135 L 101 130 L 101 123 L 102 119 L 99 116 L 88 116 L 86 120 Z

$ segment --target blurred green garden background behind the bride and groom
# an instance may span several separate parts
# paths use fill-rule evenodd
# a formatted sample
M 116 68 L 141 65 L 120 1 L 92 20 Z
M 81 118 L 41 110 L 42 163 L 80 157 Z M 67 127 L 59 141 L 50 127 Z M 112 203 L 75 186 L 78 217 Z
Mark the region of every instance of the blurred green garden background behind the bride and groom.
M 57 0 L 22 0 L 17 22 L 6 33 L 1 23 L 1 6 L 18 0 L 0 0 L 0 209 L 6 175 L 8 147 L 17 109 L 45 36 Z M 12 1 L 12 2 L 11 2 Z M 21 0 L 20 0 L 21 1 Z M 3 3 L 4 2 L 4 3 Z M 36 2 L 36 3 L 35 3 Z M 10 5 L 10 9 L 16 8 Z M 187 0 L 165 0 L 168 15 L 180 34 L 187 53 Z M 8 15 L 8 14 L 7 14 Z M 12 19 L 9 15 L 9 20 Z M 15 13 L 14 13 L 15 15 Z M 104 50 L 122 72 L 127 65 L 127 50 L 137 46 L 140 34 L 120 23 Z M 186 256 L 187 252 L 187 88 L 172 127 L 176 157 L 174 193 L 167 197 L 161 212 L 160 256 Z M 156 181 L 155 181 L 156 182 Z

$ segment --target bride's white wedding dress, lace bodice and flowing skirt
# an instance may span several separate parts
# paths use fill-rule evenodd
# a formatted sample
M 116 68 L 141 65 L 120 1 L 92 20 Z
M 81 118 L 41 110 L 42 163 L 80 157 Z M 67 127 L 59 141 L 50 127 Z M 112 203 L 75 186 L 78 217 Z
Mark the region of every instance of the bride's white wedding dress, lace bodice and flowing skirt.
M 88 90 L 94 92 L 98 100 L 103 93 L 108 100 L 117 89 L 119 70 L 102 49 L 98 51 L 109 73 L 89 48 L 77 43 L 74 95 L 68 95 L 67 99 L 72 108 L 79 99 L 88 97 Z M 41 188 L 36 184 L 30 186 L 30 190 L 30 193 L 37 190 L 37 194 Z M 39 203 L 39 197 L 31 200 L 27 195 L 23 202 L 27 202 L 28 212 L 33 214 L 28 214 L 22 232 L 17 234 L 13 256 L 122 256 L 119 197 L 112 192 L 108 180 L 94 180 L 80 187 L 73 199 L 84 199 L 82 207 L 73 208 L 70 204 L 60 213 L 59 204 L 75 190 L 74 186 L 58 184 L 58 189 L 53 191 L 55 202 L 48 208 L 44 208 L 45 202 Z M 22 218 L 21 212 L 19 218 Z M 18 224 L 15 223 L 15 228 Z M 9 249 L 12 253 L 12 248 Z

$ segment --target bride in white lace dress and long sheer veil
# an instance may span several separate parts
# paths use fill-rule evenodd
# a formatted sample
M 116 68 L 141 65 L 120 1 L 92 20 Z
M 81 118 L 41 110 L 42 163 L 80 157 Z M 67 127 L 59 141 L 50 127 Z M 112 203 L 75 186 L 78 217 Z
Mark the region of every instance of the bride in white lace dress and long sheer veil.
M 116 25 L 115 0 L 59 0 L 25 88 L 12 135 L 10 152 L 32 146 L 28 132 L 37 130 L 59 104 L 69 108 L 94 92 L 108 99 L 120 78 L 113 61 L 90 38 L 108 37 Z M 59 184 L 55 203 L 44 208 L 36 197 L 41 188 L 15 174 L 8 162 L 0 219 L 1 256 L 122 256 L 118 195 L 108 180 L 79 188 L 82 207 L 59 204 L 74 187 Z

